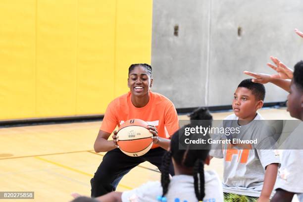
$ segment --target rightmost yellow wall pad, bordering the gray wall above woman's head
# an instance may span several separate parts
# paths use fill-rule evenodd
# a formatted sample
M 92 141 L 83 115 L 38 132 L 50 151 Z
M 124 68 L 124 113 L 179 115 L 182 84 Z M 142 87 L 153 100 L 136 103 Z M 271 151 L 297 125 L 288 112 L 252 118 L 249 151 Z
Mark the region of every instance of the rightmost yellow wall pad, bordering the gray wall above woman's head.
M 132 63 L 151 63 L 152 0 L 118 0 L 116 23 L 115 96 L 118 96 L 127 90 L 127 67 Z

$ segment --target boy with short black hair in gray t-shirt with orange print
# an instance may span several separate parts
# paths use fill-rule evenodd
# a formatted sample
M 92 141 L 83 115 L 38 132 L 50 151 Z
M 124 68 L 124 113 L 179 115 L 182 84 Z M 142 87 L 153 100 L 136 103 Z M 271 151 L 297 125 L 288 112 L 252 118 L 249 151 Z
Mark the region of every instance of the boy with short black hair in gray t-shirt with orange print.
M 260 125 L 264 119 L 256 112 L 263 106 L 264 97 L 262 84 L 253 83 L 252 79 L 243 80 L 234 93 L 234 114 L 223 121 L 223 127 L 238 127 L 240 133 L 233 137 L 219 136 L 233 141 L 236 138 L 257 140 L 257 143 L 223 144 L 220 149 L 210 151 L 211 156 L 224 158 L 224 201 L 245 198 L 247 201 L 268 202 L 271 196 L 280 159 L 268 147 L 274 144 L 274 131 Z

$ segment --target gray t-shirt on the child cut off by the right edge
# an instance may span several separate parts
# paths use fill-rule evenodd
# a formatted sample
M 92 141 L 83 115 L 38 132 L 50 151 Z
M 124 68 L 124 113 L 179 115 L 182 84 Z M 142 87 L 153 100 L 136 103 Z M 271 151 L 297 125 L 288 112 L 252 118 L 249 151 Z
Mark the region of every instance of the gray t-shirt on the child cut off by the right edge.
M 282 150 L 281 167 L 275 184 L 275 189 L 280 188 L 297 193 L 300 202 L 303 202 L 303 150 L 299 150 L 303 145 L 302 140 L 300 140 L 302 136 L 303 123 L 286 140 L 288 147 L 294 150 Z M 293 146 L 293 144 L 295 145 Z M 298 149 L 296 149 L 297 146 Z

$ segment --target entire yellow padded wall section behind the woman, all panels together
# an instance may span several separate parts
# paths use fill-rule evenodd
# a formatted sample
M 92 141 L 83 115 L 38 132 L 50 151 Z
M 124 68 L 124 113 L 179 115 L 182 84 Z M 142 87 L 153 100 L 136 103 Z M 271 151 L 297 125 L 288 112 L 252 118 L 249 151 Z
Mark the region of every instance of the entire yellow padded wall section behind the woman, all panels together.
M 151 62 L 152 0 L 3 0 L 0 120 L 102 114 Z

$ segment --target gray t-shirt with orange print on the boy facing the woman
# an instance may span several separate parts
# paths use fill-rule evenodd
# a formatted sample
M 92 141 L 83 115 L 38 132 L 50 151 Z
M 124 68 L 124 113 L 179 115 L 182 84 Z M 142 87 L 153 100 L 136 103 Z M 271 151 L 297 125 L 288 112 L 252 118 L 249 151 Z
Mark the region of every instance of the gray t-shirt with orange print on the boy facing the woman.
M 235 114 L 227 116 L 224 120 L 238 120 Z M 260 114 L 257 114 L 254 120 L 264 120 Z M 210 155 L 217 158 L 224 158 L 223 171 L 223 191 L 226 193 L 240 194 L 252 197 L 259 197 L 262 191 L 265 167 L 271 163 L 280 163 L 280 158 L 274 150 L 260 150 L 262 145 L 273 141 L 271 134 L 264 135 L 264 130 L 256 125 L 257 121 L 239 126 L 238 121 L 234 121 L 237 127 L 240 127 L 240 134 L 232 138 L 247 139 L 248 137 L 257 139 L 257 145 L 252 144 L 250 149 L 235 148 L 231 144 L 222 144 L 222 149 L 214 149 L 210 151 Z M 223 122 L 224 125 L 224 122 Z M 235 127 L 235 126 L 233 126 Z M 274 131 L 266 130 L 267 133 Z M 219 136 L 221 139 L 226 138 L 225 135 Z M 245 138 L 244 138 L 245 137 Z M 264 144 L 266 143 L 266 144 Z M 260 146 L 261 145 L 261 146 Z M 218 146 L 216 146 L 218 147 Z

